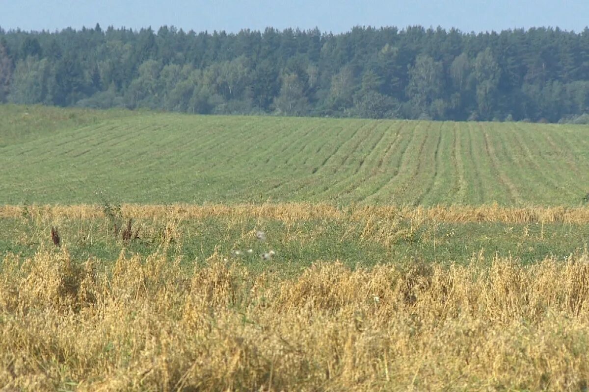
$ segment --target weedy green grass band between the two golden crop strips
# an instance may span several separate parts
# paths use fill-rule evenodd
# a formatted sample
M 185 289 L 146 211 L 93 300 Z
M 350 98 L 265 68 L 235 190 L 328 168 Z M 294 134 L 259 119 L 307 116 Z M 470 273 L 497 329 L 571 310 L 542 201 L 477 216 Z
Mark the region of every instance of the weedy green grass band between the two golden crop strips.
M 72 257 L 115 260 L 122 250 L 148 256 L 158 249 L 183 265 L 206 263 L 216 255 L 243 263 L 250 269 L 297 273 L 317 260 L 340 260 L 350 267 L 412 260 L 467 264 L 473 254 L 487 259 L 512 256 L 531 263 L 548 256 L 565 260 L 587 246 L 589 226 L 562 223 L 436 223 L 400 221 L 382 234 L 384 226 L 366 232 L 366 220 L 316 219 L 285 222 L 279 219 L 207 217 L 177 222 L 174 219 L 133 220 L 138 239 L 123 241 L 119 225 L 115 236 L 107 218 L 88 220 L 45 217 L 0 220 L 0 249 L 4 254 L 32 256 L 39 247 L 53 247 L 50 230 L 58 227 L 61 246 Z M 386 225 L 383 223 L 382 225 Z M 266 240 L 256 238 L 257 231 Z M 251 249 L 251 253 L 248 250 Z M 263 260 L 262 254 L 276 255 Z M 239 251 L 241 254 L 236 254 Z

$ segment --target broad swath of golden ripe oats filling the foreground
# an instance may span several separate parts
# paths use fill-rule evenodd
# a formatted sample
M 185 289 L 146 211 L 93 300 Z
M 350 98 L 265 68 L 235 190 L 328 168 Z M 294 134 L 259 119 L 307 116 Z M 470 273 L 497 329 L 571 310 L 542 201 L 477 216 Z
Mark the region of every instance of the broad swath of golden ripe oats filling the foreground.
M 7 390 L 579 390 L 589 257 L 280 279 L 41 249 L 2 263 L 0 336 Z

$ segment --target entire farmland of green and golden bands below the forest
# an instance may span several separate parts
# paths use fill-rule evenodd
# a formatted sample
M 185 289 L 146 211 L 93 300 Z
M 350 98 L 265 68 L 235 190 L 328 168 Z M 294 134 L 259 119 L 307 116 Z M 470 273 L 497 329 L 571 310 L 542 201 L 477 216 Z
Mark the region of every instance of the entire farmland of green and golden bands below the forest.
M 589 384 L 587 126 L 0 115 L 2 386 Z

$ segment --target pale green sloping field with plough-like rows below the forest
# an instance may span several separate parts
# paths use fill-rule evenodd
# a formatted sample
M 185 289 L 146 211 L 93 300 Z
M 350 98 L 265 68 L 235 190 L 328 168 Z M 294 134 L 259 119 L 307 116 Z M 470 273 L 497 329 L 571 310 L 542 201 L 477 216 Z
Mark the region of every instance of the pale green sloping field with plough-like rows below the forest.
M 0 106 L 0 202 L 578 206 L 587 126 Z

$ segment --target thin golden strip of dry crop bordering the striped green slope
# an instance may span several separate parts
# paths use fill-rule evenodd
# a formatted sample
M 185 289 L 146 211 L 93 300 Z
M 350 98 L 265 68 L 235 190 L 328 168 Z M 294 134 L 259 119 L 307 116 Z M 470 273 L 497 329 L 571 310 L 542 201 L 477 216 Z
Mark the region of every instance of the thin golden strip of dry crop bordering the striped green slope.
M 175 216 L 183 219 L 203 217 L 260 217 L 278 220 L 398 218 L 432 219 L 438 222 L 501 223 L 589 223 L 589 207 L 502 207 L 486 206 L 349 206 L 327 204 L 279 203 L 264 205 L 134 205 L 121 206 L 125 217 L 157 218 Z M 0 206 L 0 218 L 25 215 L 92 219 L 104 217 L 98 205 Z

